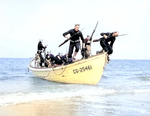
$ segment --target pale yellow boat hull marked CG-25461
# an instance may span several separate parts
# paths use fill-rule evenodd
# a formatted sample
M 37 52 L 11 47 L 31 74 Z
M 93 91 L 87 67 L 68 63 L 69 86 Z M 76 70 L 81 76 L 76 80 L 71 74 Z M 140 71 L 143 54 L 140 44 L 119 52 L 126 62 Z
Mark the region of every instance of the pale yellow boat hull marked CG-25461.
M 33 60 L 29 64 L 29 69 L 33 75 L 49 81 L 95 85 L 101 79 L 106 61 L 106 53 L 55 68 L 36 68 Z

